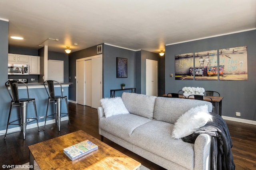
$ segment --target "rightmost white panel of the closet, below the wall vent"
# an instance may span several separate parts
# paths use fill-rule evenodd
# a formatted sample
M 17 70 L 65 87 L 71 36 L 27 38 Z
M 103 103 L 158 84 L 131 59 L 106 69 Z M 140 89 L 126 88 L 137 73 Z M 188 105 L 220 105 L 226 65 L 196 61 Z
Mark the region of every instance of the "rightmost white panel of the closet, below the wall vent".
M 100 107 L 102 99 L 102 58 L 92 59 L 92 107 Z

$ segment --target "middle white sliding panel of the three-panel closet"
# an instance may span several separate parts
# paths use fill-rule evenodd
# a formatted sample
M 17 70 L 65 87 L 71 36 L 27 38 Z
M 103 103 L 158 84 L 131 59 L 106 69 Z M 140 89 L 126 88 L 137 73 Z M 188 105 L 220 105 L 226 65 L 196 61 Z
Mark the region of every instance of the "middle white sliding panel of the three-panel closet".
M 85 105 L 92 106 L 92 60 L 85 61 Z

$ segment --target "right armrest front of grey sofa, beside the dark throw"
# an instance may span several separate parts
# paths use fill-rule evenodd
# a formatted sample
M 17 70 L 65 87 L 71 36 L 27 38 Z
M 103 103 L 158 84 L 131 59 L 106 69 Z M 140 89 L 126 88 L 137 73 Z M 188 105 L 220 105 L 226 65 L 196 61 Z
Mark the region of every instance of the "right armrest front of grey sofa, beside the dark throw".
M 201 134 L 194 144 L 194 169 L 210 170 L 211 168 L 211 136 Z

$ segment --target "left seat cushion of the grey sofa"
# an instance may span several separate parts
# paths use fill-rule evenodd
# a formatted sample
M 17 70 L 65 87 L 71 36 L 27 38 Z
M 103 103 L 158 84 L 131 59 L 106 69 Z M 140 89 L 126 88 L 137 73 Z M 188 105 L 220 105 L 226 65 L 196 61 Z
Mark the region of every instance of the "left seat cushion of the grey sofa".
M 114 115 L 111 117 L 101 117 L 99 127 L 108 133 L 126 140 L 136 127 L 143 125 L 151 119 L 134 114 Z

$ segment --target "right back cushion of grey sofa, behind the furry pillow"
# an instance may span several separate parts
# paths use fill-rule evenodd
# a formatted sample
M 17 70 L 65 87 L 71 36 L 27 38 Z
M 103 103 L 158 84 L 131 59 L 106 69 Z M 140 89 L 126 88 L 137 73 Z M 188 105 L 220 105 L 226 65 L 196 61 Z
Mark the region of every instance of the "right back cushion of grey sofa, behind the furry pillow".
M 189 109 L 205 104 L 208 106 L 208 111 L 211 112 L 212 103 L 210 102 L 194 99 L 158 97 L 156 98 L 154 107 L 154 119 L 174 124 Z

